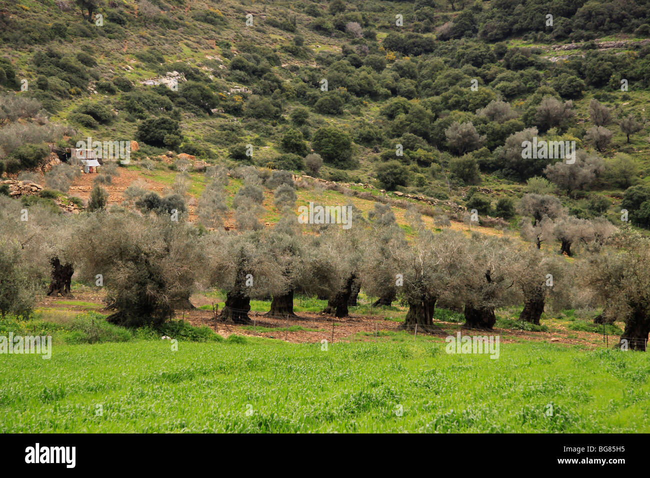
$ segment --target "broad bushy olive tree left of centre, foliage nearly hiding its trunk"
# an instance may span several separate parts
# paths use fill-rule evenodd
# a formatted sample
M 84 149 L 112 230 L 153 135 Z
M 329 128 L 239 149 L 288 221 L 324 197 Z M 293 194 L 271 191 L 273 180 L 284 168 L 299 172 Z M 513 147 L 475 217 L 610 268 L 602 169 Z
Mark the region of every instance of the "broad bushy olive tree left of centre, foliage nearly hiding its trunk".
M 169 217 L 135 213 L 90 215 L 77 234 L 81 275 L 101 278 L 107 289 L 107 321 L 159 326 L 187 307 L 201 261 L 197 232 Z

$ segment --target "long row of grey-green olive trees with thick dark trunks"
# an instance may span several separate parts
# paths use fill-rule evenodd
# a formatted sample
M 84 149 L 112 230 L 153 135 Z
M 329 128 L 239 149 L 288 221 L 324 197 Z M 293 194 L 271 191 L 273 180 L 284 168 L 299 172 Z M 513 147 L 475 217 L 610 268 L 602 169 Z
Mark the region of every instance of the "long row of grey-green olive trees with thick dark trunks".
M 215 181 L 223 187 L 223 179 Z M 248 323 L 250 300 L 266 298 L 272 299 L 270 315 L 294 316 L 295 293 L 326 297 L 324 312 L 344 317 L 350 298 L 363 287 L 378 297 L 378 305 L 398 299 L 408 304 L 403 324 L 408 329 L 432 330 L 436 305 L 462 310 L 467 327 L 489 329 L 495 310 L 523 304 L 519 318 L 539 324 L 547 306 L 565 308 L 579 296 L 581 303 L 604 306 L 604 315 L 625 320 L 624 338 L 647 339 L 650 301 L 642 290 L 650 267 L 647 239 L 615 233 L 602 221 L 562 217 L 547 202 L 530 228 L 545 232 L 551 221 L 553 230 L 577 230 L 571 241 L 584 252 L 575 263 L 541 248 L 539 236 L 536 247 L 508 235 L 434 233 L 414 211 L 407 214 L 407 237 L 382 204 L 367 217 L 352 207 L 350 229 L 323 224 L 305 230 L 294 213 L 292 181 L 277 182 L 274 196 L 282 213 L 266 228 L 256 226 L 259 219 L 253 217 L 238 220 L 236 229 L 206 230 L 188 223 L 184 213 L 174 220 L 165 211 L 62 215 L 38 206 L 21 209 L 5 198 L 0 310 L 29 310 L 48 277 L 51 291 L 69 292 L 72 272 L 63 284 L 56 278 L 57 265 L 69 265 L 79 278 L 107 288 L 107 306 L 114 310 L 109 321 L 125 326 L 159 325 L 191 306 L 192 293 L 215 287 L 226 291 L 222 321 Z M 240 189 L 237 209 L 249 216 L 258 210 L 246 206 L 255 203 L 255 187 L 255 178 L 246 178 Z M 214 191 L 220 195 L 218 184 Z M 224 211 L 219 224 L 229 220 L 226 209 L 212 210 Z M 563 243 L 565 256 L 569 251 Z

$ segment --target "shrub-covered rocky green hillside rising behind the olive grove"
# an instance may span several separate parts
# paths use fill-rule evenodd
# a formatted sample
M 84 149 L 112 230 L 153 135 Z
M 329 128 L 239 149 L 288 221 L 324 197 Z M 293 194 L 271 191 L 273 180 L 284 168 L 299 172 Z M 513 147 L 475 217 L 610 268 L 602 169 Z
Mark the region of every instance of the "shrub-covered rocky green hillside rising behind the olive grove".
M 539 189 L 526 187 L 526 180 L 550 178 L 544 168 L 556 161 L 523 165 L 504 151 L 508 136 L 536 127 L 539 140 L 575 140 L 578 150 L 603 159 L 595 178 L 568 194 L 561 178 L 556 187 L 543 186 L 572 215 L 619 223 L 627 187 L 647 182 L 650 46 L 641 3 L 623 13 L 615 3 L 572 3 L 555 12 L 554 27 L 545 25 L 545 4 L 536 4 L 526 24 L 508 28 L 500 17 L 521 5 L 81 3 L 96 7 L 93 21 L 82 17 L 77 3 L 63 0 L 21 0 L 0 12 L 3 83 L 16 90 L 27 85 L 19 95 L 40 101 L 49 123 L 65 126 L 48 141 L 62 158 L 64 148 L 87 137 L 137 140 L 131 158 L 140 170 L 152 159 L 160 176 L 174 168 L 162 161 L 172 150 L 230 168 L 254 164 L 370 184 L 510 220 L 521 194 Z M 567 21 L 578 27 L 567 31 Z M 572 101 L 570 113 L 541 118 L 537 109 L 549 96 Z M 595 126 L 588 112 L 593 98 L 611 111 L 603 126 L 611 139 L 598 148 L 587 133 Z M 476 113 L 493 100 L 508 101 L 512 113 Z M 628 142 L 616 123 L 629 114 L 640 129 Z M 445 131 L 454 121 L 471 122 L 476 132 L 467 133 L 469 140 L 450 139 Z M 29 163 L 16 159 L 16 146 L 4 148 L 12 177 Z M 319 170 L 309 172 L 304 163 L 310 151 L 324 159 Z M 120 181 L 148 176 L 129 167 Z M 88 178 L 75 181 L 70 195 L 86 200 Z M 471 202 L 469 185 L 489 193 Z M 637 224 L 647 224 L 637 216 L 632 213 Z

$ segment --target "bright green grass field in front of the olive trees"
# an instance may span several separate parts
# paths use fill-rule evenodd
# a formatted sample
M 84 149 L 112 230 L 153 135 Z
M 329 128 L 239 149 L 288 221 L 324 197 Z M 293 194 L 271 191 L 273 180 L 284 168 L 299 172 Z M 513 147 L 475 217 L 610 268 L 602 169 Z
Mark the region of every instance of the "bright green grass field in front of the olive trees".
M 152 339 L 0 367 L 0 432 L 650 431 L 647 354 L 549 343 L 493 360 L 410 340 Z

